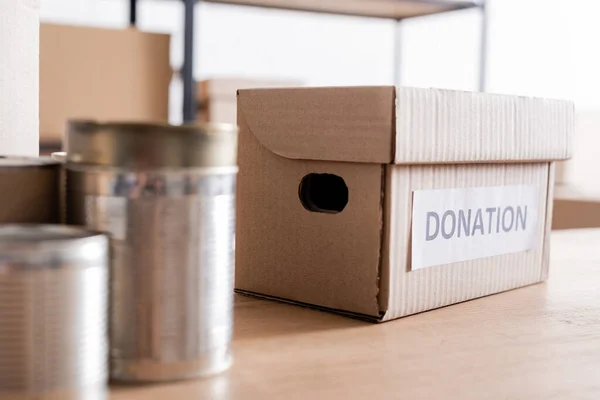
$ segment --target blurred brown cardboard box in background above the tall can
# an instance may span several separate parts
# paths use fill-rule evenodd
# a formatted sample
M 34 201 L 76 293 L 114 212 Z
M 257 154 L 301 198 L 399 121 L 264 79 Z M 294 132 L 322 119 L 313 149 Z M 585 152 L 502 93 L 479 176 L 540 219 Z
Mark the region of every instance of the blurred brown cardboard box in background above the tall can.
M 70 118 L 168 121 L 169 57 L 169 35 L 41 24 L 42 144 L 60 142 Z

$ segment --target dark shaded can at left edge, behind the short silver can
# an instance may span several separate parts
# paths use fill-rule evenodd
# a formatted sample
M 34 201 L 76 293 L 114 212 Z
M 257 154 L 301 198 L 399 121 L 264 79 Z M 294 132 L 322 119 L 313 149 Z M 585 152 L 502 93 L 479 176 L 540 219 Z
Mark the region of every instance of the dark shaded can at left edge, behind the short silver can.
M 0 223 L 60 222 L 60 170 L 50 157 L 0 157 Z

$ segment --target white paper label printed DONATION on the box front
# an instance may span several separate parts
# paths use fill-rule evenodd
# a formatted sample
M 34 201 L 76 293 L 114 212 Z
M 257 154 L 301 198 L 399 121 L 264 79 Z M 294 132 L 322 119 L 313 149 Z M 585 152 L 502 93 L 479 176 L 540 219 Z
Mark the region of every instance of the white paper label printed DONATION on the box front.
M 411 269 L 534 249 L 539 199 L 534 185 L 414 191 Z

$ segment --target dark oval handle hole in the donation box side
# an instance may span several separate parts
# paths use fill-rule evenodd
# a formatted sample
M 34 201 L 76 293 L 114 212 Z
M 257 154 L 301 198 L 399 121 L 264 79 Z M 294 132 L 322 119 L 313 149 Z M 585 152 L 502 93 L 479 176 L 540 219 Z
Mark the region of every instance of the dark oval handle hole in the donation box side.
M 298 189 L 300 202 L 312 212 L 337 214 L 348 204 L 348 186 L 333 174 L 308 174 Z

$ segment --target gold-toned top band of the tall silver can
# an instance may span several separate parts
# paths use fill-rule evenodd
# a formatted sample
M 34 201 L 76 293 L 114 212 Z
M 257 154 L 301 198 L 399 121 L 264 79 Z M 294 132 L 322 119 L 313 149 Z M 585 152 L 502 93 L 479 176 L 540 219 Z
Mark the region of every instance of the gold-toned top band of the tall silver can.
M 125 168 L 237 165 L 237 127 L 69 121 L 67 162 Z

